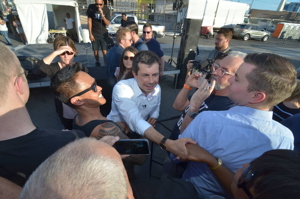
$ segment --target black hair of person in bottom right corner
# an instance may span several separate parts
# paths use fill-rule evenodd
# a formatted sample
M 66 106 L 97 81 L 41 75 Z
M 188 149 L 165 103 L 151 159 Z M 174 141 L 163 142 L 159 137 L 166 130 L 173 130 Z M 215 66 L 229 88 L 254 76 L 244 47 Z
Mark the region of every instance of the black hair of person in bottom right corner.
M 288 149 L 267 151 L 254 159 L 249 169 L 256 179 L 255 199 L 299 198 L 299 162 L 300 152 Z

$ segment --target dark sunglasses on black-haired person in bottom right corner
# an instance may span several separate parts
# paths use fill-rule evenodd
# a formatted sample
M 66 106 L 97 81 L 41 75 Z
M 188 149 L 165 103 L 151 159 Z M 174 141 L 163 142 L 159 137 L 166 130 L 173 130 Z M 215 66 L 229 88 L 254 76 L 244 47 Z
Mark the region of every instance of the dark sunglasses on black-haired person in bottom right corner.
M 238 188 L 243 188 L 245 193 L 250 199 L 253 199 L 253 195 L 250 192 L 250 190 L 246 187 L 246 184 L 248 184 L 250 187 L 253 186 L 253 179 L 254 179 L 254 173 L 252 170 L 249 169 L 250 165 L 244 170 L 244 172 L 241 174 L 241 176 L 238 179 Z

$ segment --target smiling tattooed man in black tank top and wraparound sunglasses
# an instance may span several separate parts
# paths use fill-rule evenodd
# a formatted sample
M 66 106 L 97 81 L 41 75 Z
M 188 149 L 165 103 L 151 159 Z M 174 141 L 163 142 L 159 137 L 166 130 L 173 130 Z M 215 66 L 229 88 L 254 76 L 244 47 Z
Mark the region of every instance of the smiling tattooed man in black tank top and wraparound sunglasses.
M 73 119 L 73 129 L 83 131 L 86 137 L 100 139 L 112 135 L 129 139 L 125 132 L 128 128 L 124 123 L 116 123 L 102 116 L 99 106 L 106 103 L 102 88 L 97 86 L 95 78 L 82 72 L 79 66 L 65 67 L 51 80 L 51 90 L 55 97 L 78 112 Z M 135 178 L 133 164 L 142 165 L 146 155 L 130 155 L 123 161 L 132 179 Z

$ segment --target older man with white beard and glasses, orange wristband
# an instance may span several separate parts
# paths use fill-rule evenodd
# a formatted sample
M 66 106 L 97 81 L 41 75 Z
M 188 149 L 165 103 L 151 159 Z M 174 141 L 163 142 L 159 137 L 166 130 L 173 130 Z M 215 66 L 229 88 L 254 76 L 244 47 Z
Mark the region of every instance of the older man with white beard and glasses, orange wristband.
M 170 136 L 171 140 L 178 139 L 187 125 L 202 111 L 206 110 L 228 110 L 235 106 L 234 102 L 228 97 L 228 86 L 230 83 L 228 79 L 235 74 L 235 71 L 243 62 L 246 53 L 238 51 L 231 51 L 228 56 L 222 59 L 219 65 L 215 65 L 216 70 L 212 73 L 211 87 L 208 87 L 208 82 L 203 85 L 198 85 L 198 77 L 200 73 L 194 73 L 187 78 L 184 87 L 177 95 L 173 107 L 176 110 L 184 111 L 178 122 L 173 128 Z M 204 87 L 205 86 L 205 87 Z M 192 88 L 198 90 L 188 97 L 188 93 Z M 200 88 L 201 87 L 201 88 Z M 203 89 L 205 88 L 205 89 Z M 186 167 L 186 163 L 179 163 L 176 165 L 167 157 L 164 163 L 163 172 L 169 176 L 181 178 Z

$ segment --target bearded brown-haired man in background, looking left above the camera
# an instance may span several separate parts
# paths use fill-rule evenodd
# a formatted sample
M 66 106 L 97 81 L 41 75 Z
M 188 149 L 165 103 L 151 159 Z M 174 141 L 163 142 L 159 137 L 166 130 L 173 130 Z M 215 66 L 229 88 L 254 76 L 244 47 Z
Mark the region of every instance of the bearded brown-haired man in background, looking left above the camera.
M 230 51 L 232 51 L 229 48 L 229 41 L 232 39 L 232 32 L 230 29 L 225 28 L 221 29 L 217 32 L 216 35 L 216 41 L 215 49 L 211 50 L 208 54 L 208 58 L 214 58 L 217 56 L 218 53 L 226 53 L 228 54 Z

